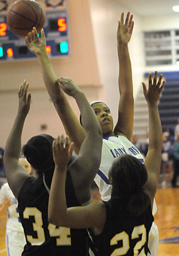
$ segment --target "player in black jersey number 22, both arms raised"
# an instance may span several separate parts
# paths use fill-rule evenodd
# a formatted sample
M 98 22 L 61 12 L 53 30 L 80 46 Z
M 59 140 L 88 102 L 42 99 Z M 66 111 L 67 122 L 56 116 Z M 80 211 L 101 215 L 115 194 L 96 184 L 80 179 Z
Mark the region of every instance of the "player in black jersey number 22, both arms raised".
M 68 140 L 64 143 L 63 136 L 53 142 L 56 168 L 49 195 L 49 222 L 70 228 L 93 228 L 94 243 L 100 256 L 151 255 L 148 237 L 154 221 L 152 206 L 162 151 L 162 127 L 157 105 L 164 83 L 162 75 L 157 80 L 157 72 L 153 81 L 149 74 L 148 89 L 143 83 L 149 109 L 148 154 L 144 164 L 131 155 L 115 158 L 109 171 L 112 194 L 108 202 L 67 207 L 65 177 L 71 146 Z M 59 198 L 57 202 L 56 198 Z

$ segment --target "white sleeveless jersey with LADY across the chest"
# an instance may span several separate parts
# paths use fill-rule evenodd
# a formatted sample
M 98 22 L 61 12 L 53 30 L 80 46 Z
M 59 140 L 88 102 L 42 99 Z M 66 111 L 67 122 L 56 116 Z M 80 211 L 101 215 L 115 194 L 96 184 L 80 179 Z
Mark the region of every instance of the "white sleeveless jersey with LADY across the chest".
M 130 142 L 126 137 L 122 135 L 104 137 L 102 139 L 102 155 L 99 171 L 94 177 L 96 185 L 99 187 L 99 193 L 104 201 L 110 200 L 110 194 L 112 186 L 109 183 L 108 173 L 115 158 L 120 155 L 128 154 L 138 158 L 141 163 L 144 163 L 143 155 L 139 150 Z M 156 214 L 157 205 L 154 199 L 153 215 Z

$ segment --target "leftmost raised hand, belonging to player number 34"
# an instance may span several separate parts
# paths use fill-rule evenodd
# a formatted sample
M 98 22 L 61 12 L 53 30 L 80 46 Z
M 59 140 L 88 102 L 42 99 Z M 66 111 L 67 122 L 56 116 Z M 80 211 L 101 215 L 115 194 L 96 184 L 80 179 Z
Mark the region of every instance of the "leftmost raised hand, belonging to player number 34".
M 30 100 L 31 100 L 31 94 L 28 92 L 28 83 L 26 80 L 23 81 L 21 84 L 20 90 L 19 90 L 19 114 L 24 114 L 24 116 L 27 116 L 28 111 L 30 109 Z

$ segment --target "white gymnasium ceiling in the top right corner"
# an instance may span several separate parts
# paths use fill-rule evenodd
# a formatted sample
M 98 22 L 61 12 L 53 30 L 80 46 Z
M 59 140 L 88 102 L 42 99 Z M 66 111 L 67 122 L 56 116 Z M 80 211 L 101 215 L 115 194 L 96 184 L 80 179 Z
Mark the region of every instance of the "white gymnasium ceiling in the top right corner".
M 179 6 L 179 0 L 118 0 L 129 11 L 135 12 L 140 16 L 151 15 L 176 15 L 179 12 L 173 12 L 172 6 Z

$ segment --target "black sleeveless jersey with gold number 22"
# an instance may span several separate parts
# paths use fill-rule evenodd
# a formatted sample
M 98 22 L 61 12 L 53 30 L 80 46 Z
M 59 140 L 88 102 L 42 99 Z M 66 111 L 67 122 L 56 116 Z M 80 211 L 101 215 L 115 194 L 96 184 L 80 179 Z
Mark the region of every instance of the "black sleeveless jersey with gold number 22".
M 151 205 L 143 214 L 133 217 L 118 198 L 104 203 L 106 223 L 102 233 L 93 239 L 98 255 L 151 255 L 148 248 L 148 234 L 154 221 Z

